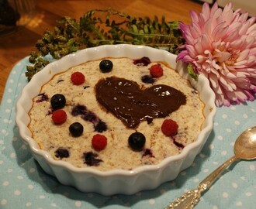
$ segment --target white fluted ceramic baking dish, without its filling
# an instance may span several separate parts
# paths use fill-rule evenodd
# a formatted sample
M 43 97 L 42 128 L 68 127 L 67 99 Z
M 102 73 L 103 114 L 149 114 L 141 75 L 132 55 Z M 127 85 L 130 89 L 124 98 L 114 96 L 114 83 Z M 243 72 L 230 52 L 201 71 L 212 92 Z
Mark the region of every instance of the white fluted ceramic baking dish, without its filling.
M 192 86 L 199 91 L 200 98 L 206 105 L 204 108 L 206 119 L 195 142 L 185 146 L 180 154 L 170 156 L 157 165 L 140 166 L 133 170 L 99 171 L 93 168 L 78 168 L 70 163 L 54 160 L 48 152 L 40 149 L 28 128 L 30 122 L 28 112 L 33 105 L 33 98 L 39 94 L 42 85 L 50 81 L 54 74 L 86 61 L 99 60 L 103 57 L 128 57 L 131 59 L 149 57 L 152 61 L 168 63 L 182 77 L 189 79 Z M 140 190 L 154 189 L 161 183 L 174 180 L 180 171 L 191 166 L 195 156 L 204 146 L 213 128 L 213 118 L 216 114 L 215 96 L 209 87 L 208 80 L 202 76 L 199 76 L 198 81 L 193 80 L 189 77 L 185 64 L 176 63 L 175 59 L 176 56 L 166 50 L 122 44 L 88 48 L 54 61 L 37 73 L 22 91 L 16 105 L 16 124 L 19 127 L 19 133 L 22 139 L 29 144 L 33 157 L 45 172 L 56 176 L 57 180 L 64 185 L 76 187 L 83 192 L 98 192 L 104 195 L 134 194 Z

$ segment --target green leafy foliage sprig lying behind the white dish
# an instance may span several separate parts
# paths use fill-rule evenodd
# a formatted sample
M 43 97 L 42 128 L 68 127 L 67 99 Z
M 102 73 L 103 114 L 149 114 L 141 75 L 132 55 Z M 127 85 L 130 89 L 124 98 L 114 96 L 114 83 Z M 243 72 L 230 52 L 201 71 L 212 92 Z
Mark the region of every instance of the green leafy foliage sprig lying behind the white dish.
M 148 17 L 136 18 L 114 9 L 95 9 L 86 12 L 79 21 L 64 17 L 52 31 L 47 30 L 36 43 L 37 51 L 30 54 L 26 71 L 28 81 L 45 67 L 47 55 L 60 59 L 69 53 L 103 44 L 137 44 L 164 48 L 178 53 L 185 43 L 178 22 L 166 22 Z

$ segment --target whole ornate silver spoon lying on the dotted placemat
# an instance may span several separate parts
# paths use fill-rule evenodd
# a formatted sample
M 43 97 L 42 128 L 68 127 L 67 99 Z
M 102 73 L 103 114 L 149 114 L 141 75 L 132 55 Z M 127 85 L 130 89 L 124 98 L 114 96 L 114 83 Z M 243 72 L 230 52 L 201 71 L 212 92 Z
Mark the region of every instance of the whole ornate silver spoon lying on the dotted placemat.
M 195 190 L 189 190 L 164 209 L 191 209 L 198 204 L 202 191 L 208 190 L 223 170 L 237 159 L 256 159 L 256 126 L 242 132 L 234 144 L 234 156 L 219 166 L 199 183 Z

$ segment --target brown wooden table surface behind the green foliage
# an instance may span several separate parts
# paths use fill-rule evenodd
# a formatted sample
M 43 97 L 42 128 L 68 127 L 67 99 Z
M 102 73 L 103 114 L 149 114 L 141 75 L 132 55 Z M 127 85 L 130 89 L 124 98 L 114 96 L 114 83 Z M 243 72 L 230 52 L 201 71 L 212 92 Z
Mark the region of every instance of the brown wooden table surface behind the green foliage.
M 40 39 L 46 29 L 53 29 L 56 21 L 65 15 L 79 19 L 91 9 L 108 9 L 109 7 L 137 17 L 153 18 L 154 15 L 158 17 L 164 15 L 167 21 L 180 20 L 189 23 L 189 11 L 200 12 L 202 4 L 189 0 L 61 0 L 54 3 L 49 0 L 36 1 L 36 15 L 31 22 L 16 33 L 0 37 L 0 101 L 2 101 L 5 83 L 12 67 L 35 50 L 36 40 Z

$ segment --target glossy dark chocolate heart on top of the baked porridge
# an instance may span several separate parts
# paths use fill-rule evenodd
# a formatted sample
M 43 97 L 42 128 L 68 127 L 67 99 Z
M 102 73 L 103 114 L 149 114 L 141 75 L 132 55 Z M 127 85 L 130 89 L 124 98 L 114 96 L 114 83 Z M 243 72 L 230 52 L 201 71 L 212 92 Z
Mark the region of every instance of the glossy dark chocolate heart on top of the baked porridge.
M 141 89 L 136 82 L 119 77 L 100 80 L 95 94 L 97 101 L 129 128 L 164 118 L 186 103 L 185 95 L 173 87 L 160 84 Z

